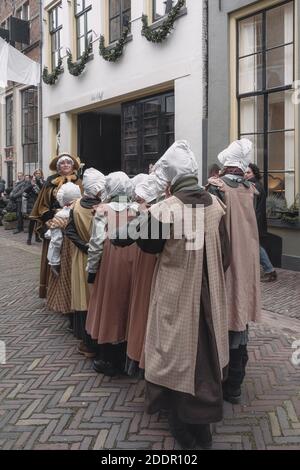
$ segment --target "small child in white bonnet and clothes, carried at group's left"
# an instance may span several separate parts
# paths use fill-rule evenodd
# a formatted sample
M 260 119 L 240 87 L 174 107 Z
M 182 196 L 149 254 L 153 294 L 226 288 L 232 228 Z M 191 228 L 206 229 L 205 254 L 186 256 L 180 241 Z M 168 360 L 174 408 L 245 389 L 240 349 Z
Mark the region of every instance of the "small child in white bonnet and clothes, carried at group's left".
M 58 276 L 60 272 L 63 229 L 68 223 L 72 203 L 80 197 L 80 188 L 74 183 L 65 183 L 57 191 L 56 199 L 62 209 L 56 212 L 54 218 L 48 222 L 49 230 L 45 234 L 45 238 L 50 239 L 47 258 L 55 276 Z

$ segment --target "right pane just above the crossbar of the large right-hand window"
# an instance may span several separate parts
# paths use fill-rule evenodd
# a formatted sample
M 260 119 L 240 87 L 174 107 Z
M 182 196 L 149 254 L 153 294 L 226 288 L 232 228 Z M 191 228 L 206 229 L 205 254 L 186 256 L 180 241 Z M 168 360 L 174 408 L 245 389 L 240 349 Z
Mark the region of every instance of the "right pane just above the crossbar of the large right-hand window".
M 267 88 L 291 85 L 294 79 L 293 63 L 293 45 L 267 52 Z

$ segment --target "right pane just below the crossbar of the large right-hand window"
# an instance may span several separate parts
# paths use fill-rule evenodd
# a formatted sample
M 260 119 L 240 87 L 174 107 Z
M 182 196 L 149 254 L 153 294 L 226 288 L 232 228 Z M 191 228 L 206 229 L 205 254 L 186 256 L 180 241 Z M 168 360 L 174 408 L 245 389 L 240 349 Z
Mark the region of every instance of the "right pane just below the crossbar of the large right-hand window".
M 269 94 L 269 130 L 294 129 L 295 108 L 292 102 L 293 91 Z

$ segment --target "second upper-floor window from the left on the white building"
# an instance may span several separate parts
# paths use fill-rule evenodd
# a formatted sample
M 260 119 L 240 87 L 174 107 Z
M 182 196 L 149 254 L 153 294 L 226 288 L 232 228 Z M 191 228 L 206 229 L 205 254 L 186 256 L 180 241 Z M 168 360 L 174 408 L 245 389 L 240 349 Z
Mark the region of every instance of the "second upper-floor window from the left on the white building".
M 75 0 L 77 59 L 92 40 L 92 0 Z

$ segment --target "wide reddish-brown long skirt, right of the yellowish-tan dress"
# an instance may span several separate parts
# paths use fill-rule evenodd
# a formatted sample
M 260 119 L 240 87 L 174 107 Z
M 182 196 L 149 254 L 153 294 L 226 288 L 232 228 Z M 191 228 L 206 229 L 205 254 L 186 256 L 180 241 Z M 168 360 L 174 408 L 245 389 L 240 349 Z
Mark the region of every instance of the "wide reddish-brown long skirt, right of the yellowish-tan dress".
M 133 262 L 137 253 L 135 244 L 119 248 L 108 239 L 105 241 L 86 319 L 86 331 L 98 344 L 126 340 Z

